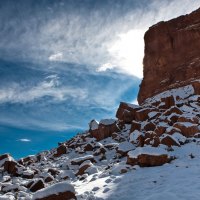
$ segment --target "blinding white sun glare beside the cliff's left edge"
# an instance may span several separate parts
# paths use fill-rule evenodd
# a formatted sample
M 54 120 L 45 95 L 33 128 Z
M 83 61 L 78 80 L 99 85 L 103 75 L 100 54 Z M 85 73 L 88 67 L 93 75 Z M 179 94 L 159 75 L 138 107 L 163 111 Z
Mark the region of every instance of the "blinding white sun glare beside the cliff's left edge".
M 115 59 L 115 66 L 139 78 L 143 76 L 144 32 L 145 30 L 134 29 L 120 34 L 119 40 L 108 48 L 108 52 Z

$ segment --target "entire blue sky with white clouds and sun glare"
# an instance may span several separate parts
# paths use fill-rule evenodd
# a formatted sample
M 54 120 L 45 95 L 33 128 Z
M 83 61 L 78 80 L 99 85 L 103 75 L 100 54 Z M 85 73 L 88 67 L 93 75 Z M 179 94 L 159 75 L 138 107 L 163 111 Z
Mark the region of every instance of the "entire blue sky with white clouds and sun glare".
M 21 157 L 48 149 L 93 118 L 114 117 L 120 101 L 135 102 L 145 31 L 199 5 L 0 1 L 0 153 Z

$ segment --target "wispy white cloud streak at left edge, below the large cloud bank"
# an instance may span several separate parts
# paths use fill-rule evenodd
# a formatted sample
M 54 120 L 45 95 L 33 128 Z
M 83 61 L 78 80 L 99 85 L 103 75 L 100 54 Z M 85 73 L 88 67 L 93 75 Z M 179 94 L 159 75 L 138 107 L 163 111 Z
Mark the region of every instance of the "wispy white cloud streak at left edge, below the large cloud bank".
M 0 88 L 0 103 L 26 103 L 45 96 L 55 101 L 64 101 L 69 98 L 84 99 L 87 91 L 76 86 L 62 86 L 57 76 L 49 76 L 35 86 L 12 83 Z

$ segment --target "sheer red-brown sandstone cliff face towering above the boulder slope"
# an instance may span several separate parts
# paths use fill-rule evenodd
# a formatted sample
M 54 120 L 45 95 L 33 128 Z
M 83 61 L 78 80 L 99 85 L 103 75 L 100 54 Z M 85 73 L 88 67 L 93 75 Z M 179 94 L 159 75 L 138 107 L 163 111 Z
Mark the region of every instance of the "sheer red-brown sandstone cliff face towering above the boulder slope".
M 200 78 L 200 9 L 160 22 L 146 32 L 144 79 L 138 102 Z M 196 93 L 200 85 L 194 83 Z

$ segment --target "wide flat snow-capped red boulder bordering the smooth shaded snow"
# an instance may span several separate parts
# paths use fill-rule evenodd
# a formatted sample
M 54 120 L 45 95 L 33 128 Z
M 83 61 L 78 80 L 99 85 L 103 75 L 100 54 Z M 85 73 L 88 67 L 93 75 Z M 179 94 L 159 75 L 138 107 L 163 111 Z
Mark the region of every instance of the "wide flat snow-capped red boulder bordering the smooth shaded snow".
M 167 162 L 169 162 L 167 152 L 155 147 L 139 147 L 136 150 L 129 151 L 127 154 L 127 164 L 129 165 L 153 167 Z

